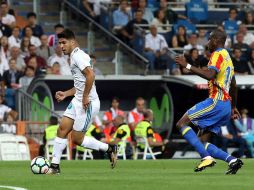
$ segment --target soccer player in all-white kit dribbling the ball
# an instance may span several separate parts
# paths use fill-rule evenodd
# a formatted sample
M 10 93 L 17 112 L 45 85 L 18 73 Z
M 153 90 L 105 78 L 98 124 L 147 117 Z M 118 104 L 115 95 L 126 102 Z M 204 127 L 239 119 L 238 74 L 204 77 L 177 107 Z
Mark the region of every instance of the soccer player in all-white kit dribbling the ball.
M 57 130 L 57 137 L 53 147 L 53 158 L 48 174 L 60 174 L 60 159 L 63 150 L 67 145 L 67 135 L 72 131 L 72 141 L 80 146 L 93 150 L 107 152 L 111 167 L 114 168 L 117 160 L 117 146 L 100 142 L 93 137 L 85 136 L 85 132 L 90 127 L 93 117 L 100 109 L 100 100 L 94 84 L 94 72 L 91 59 L 82 51 L 75 40 L 74 33 L 65 29 L 58 34 L 58 43 L 65 55 L 70 56 L 70 68 L 74 78 L 74 87 L 67 91 L 56 92 L 58 102 L 68 96 L 73 96 L 71 103 L 61 119 Z

